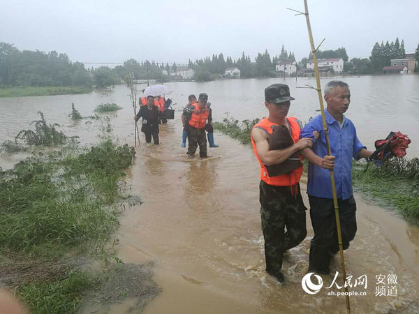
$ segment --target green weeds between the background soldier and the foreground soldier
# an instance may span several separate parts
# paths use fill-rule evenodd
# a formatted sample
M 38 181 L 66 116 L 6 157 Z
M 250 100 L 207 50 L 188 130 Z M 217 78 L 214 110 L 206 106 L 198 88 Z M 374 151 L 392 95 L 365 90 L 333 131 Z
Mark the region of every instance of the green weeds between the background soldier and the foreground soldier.
M 239 140 L 242 144 L 249 144 L 251 129 L 255 124 L 259 122 L 259 119 L 243 120 L 242 123 L 233 117 L 227 117 L 223 119 L 223 122 L 214 122 L 214 129 L 219 130 L 222 133 L 226 133 L 231 137 Z

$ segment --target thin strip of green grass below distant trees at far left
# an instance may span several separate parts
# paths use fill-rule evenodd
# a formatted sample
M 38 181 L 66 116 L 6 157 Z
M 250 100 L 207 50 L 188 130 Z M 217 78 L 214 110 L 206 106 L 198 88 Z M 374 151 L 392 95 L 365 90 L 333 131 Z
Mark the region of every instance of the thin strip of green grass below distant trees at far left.
M 50 96 L 68 94 L 86 94 L 93 91 L 92 87 L 0 87 L 1 97 Z

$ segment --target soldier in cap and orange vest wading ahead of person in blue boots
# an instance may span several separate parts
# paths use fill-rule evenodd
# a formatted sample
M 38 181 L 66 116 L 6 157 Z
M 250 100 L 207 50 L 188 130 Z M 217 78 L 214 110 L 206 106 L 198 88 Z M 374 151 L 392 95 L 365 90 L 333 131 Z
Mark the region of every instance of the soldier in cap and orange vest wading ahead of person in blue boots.
M 199 145 L 200 158 L 207 158 L 207 139 L 205 138 L 205 126 L 210 115 L 210 110 L 207 107 L 208 95 L 205 93 L 199 94 L 198 103 L 191 103 L 193 106 L 192 112 L 184 110 L 183 114 L 189 124 L 188 130 L 188 154 L 189 158 L 195 155 L 196 149 Z

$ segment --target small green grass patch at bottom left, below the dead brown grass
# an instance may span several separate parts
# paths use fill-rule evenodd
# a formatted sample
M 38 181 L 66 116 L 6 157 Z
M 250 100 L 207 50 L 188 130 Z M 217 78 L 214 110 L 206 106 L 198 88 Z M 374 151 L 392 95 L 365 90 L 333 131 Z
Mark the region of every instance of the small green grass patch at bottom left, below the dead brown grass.
M 95 287 L 98 281 L 87 273 L 71 272 L 63 280 L 37 281 L 17 287 L 15 292 L 32 313 L 76 313 L 84 291 Z

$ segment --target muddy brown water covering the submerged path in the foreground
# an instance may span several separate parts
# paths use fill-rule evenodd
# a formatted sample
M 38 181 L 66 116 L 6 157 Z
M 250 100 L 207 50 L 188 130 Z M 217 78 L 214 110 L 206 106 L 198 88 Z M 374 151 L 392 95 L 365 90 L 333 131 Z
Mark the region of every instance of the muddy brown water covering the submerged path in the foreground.
M 308 267 L 313 236 L 307 211 L 307 238 L 286 253 L 286 284 L 278 285 L 264 271 L 263 236 L 258 202 L 258 163 L 248 146 L 216 133 L 212 158 L 186 160 L 179 130 L 161 127 L 159 146 L 138 147 L 128 174 L 132 193 L 143 204 L 121 218 L 119 257 L 128 263 L 154 263 L 154 280 L 162 292 L 144 313 L 341 313 L 345 299 L 328 295 L 331 276 L 323 276 L 318 294 L 307 294 L 301 281 Z M 143 142 L 143 138 L 141 138 Z M 304 202 L 305 178 L 302 179 Z M 417 312 L 419 290 L 419 228 L 394 211 L 358 202 L 358 234 L 346 251 L 347 273 L 367 275 L 364 285 L 349 291 L 353 313 Z M 376 296 L 376 276 L 397 275 L 392 296 Z M 338 281 L 341 285 L 341 281 Z M 382 287 L 381 287 L 382 289 Z M 381 290 L 382 292 L 383 290 Z M 386 290 L 385 294 L 389 294 Z M 126 313 L 132 306 L 119 306 Z M 132 309 L 132 308 L 131 308 Z

